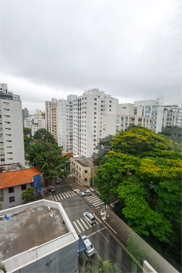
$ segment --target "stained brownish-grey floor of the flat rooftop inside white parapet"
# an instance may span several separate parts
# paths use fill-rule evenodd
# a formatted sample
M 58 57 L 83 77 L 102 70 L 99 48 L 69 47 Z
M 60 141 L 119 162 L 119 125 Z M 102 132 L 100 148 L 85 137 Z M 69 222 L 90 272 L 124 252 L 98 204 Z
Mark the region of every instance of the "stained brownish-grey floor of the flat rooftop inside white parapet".
M 46 206 L 0 221 L 0 261 L 69 233 L 58 209 Z

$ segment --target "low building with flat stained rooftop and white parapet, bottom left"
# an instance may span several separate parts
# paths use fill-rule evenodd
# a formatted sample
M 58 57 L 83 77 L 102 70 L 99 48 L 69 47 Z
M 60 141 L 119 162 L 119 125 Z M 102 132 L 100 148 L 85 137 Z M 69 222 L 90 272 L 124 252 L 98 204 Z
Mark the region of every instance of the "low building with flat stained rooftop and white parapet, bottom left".
M 79 237 L 61 203 L 43 199 L 3 210 L 0 219 L 8 272 L 77 271 Z

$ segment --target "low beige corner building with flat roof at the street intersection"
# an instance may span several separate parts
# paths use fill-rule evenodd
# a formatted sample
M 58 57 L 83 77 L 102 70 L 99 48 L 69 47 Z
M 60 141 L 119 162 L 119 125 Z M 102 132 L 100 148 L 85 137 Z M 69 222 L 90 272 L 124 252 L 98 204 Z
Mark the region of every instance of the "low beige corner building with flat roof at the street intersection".
M 76 183 L 90 187 L 94 184 L 98 167 L 93 165 L 93 162 L 86 157 L 72 157 L 70 159 L 70 173 Z

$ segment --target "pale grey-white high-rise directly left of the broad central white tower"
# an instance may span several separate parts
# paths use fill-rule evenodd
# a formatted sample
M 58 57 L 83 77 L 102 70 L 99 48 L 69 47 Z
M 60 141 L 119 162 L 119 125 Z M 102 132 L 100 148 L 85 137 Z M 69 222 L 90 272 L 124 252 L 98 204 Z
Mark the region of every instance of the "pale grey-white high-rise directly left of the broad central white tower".
M 73 152 L 73 100 L 77 95 L 68 95 L 67 100 L 58 100 L 58 145 L 63 153 Z

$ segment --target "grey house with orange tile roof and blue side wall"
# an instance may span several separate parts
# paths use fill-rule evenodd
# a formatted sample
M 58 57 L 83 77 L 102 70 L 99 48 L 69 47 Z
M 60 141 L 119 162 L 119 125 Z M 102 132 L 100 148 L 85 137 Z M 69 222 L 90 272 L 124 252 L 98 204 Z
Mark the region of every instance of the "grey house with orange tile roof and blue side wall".
M 2 172 L 0 210 L 21 205 L 23 203 L 21 194 L 28 187 L 35 188 L 37 194 L 41 193 L 41 174 L 37 167 Z

